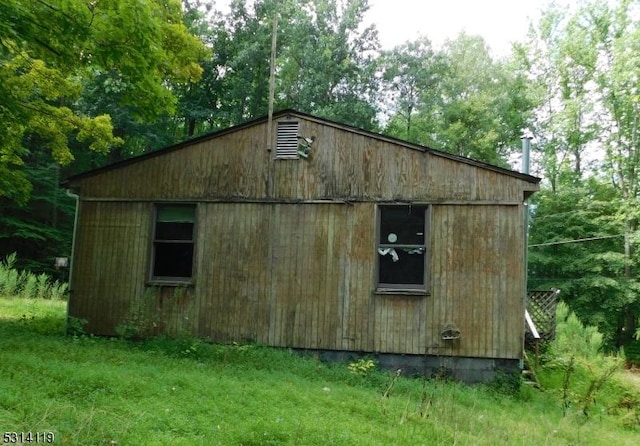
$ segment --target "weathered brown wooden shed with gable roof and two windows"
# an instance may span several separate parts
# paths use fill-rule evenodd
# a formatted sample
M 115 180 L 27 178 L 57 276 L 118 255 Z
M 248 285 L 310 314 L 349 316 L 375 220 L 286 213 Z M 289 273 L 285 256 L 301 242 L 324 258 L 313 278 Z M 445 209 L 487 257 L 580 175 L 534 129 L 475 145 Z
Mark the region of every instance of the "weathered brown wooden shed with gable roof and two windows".
M 69 316 L 489 379 L 523 356 L 538 183 L 285 110 L 70 177 Z

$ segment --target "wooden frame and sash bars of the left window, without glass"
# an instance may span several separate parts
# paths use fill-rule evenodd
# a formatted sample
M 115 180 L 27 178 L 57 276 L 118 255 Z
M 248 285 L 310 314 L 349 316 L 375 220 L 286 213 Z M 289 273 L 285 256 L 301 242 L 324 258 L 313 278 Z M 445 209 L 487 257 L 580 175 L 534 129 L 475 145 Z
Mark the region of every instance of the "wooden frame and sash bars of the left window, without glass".
M 157 240 L 157 229 L 158 229 L 158 211 L 160 208 L 167 207 L 188 207 L 193 209 L 193 228 L 191 230 L 191 240 Z M 151 231 L 151 256 L 150 256 L 150 264 L 149 264 L 149 281 L 148 283 L 151 285 L 189 285 L 194 281 L 195 275 L 195 258 L 196 258 L 196 229 L 197 229 L 197 220 L 198 220 L 198 207 L 195 203 L 155 203 L 153 207 L 153 220 L 152 220 L 152 231 Z M 181 276 L 160 276 L 155 274 L 156 269 L 156 250 L 158 244 L 190 244 L 192 246 L 192 258 L 191 258 L 191 275 L 188 277 Z

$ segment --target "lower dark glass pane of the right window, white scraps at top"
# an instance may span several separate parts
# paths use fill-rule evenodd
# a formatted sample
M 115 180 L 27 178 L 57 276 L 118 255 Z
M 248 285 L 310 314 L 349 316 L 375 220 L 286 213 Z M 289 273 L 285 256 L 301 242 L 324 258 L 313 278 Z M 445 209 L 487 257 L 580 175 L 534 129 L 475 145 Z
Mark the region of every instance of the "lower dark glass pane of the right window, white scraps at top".
M 378 251 L 378 283 L 398 285 L 424 285 L 424 250 Z

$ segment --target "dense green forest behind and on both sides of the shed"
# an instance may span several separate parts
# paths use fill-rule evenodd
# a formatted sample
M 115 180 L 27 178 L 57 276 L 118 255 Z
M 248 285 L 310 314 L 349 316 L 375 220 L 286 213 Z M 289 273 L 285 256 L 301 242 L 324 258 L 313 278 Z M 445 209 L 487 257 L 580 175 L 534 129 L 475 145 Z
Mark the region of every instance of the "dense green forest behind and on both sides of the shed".
M 534 135 L 529 288 L 614 349 L 640 314 L 640 1 L 554 6 L 495 58 L 479 36 L 382 50 L 367 0 L 5 0 L 0 256 L 64 278 L 70 174 L 295 108 L 516 167 Z

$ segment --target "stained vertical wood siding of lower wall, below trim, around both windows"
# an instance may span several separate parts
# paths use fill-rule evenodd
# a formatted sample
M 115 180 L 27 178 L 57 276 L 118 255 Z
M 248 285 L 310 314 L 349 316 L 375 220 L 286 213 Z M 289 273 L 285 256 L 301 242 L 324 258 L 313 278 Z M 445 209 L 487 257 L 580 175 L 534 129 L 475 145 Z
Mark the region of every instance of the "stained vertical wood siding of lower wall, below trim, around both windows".
M 148 298 L 152 205 L 85 202 L 82 213 L 70 314 L 113 334 Z M 221 342 L 518 358 L 521 213 L 434 205 L 430 292 L 406 296 L 375 293 L 374 203 L 200 203 L 195 308 L 163 323 L 176 331 L 189 316 L 193 334 Z M 441 339 L 447 323 L 460 340 Z

